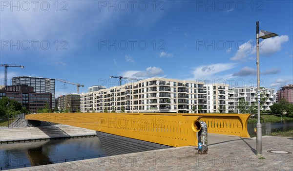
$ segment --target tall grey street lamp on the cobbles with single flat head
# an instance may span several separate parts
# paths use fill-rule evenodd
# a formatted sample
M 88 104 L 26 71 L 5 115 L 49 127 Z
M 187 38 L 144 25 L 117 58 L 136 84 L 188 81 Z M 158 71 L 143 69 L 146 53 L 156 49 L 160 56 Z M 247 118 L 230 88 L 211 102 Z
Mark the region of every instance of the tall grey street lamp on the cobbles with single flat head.
M 257 66 L 257 124 L 256 124 L 256 155 L 262 154 L 261 147 L 261 123 L 260 123 L 260 76 L 259 76 L 259 38 L 266 39 L 278 34 L 258 30 L 258 21 L 256 21 L 256 66 Z

